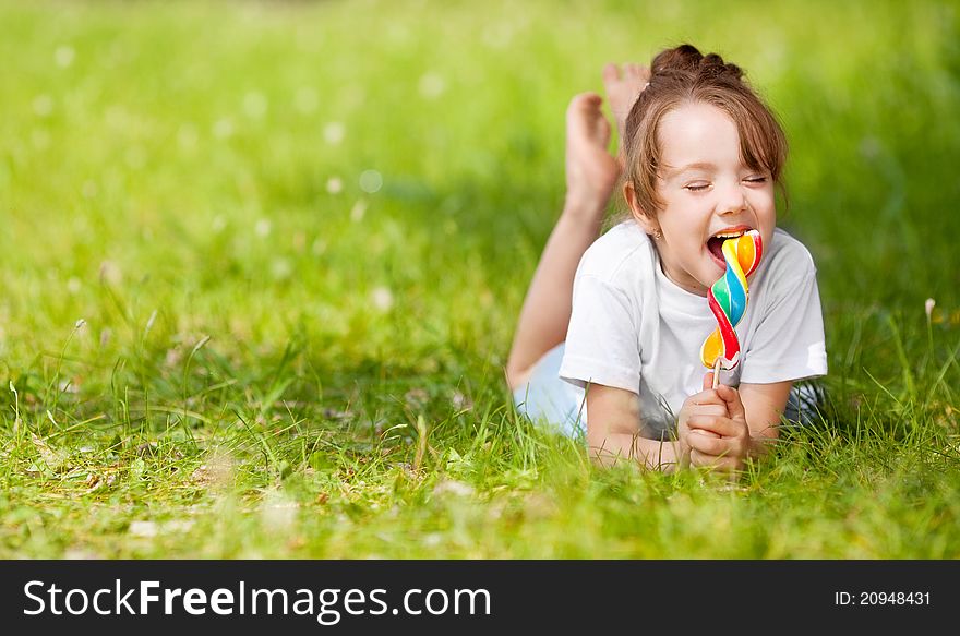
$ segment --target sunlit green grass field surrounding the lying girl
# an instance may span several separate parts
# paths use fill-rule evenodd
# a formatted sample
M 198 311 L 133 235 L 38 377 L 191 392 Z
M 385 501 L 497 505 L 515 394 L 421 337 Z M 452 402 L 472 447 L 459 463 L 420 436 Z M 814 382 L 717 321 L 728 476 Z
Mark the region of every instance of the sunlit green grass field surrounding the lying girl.
M 960 557 L 960 12 L 715 7 L 0 2 L 0 556 Z M 687 40 L 784 123 L 827 328 L 736 487 L 502 374 L 569 97 Z

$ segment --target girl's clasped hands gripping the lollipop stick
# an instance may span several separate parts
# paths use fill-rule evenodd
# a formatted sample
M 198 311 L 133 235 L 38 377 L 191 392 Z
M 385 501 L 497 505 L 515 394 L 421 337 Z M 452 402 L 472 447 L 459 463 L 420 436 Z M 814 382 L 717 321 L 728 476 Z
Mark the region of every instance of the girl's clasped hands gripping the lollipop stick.
M 707 374 L 708 377 L 712 374 Z M 711 379 L 712 381 L 712 379 Z M 706 379 L 704 383 L 706 384 Z M 727 413 L 692 413 L 686 420 L 691 465 L 711 467 L 721 472 L 743 470 L 751 449 L 751 430 L 740 392 L 720 385 L 711 392 L 723 403 Z M 697 394 L 703 395 L 703 394 Z

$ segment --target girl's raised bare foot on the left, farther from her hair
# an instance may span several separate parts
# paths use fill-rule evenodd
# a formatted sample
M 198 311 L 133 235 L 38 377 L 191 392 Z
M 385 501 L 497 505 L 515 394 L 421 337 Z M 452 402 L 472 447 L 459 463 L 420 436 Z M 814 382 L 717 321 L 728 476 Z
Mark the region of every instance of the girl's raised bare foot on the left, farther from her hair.
M 620 163 L 611 156 L 610 122 L 596 93 L 574 96 L 566 109 L 566 195 L 571 212 L 600 215 L 607 208 Z

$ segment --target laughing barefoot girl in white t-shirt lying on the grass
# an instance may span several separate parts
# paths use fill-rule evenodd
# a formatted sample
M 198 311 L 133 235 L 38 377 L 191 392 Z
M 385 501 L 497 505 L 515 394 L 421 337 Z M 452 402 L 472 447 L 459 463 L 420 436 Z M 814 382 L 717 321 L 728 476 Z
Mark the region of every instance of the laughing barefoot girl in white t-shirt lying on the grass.
M 739 471 L 777 437 L 793 383 L 827 372 L 813 260 L 776 227 L 787 142 L 742 75 L 689 45 L 650 69 L 608 64 L 617 158 L 599 95 L 567 109 L 566 201 L 506 374 L 521 412 L 586 432 L 602 464 Z M 622 172 L 629 215 L 598 238 Z M 713 389 L 699 356 L 717 328 L 707 290 L 725 269 L 720 236 L 752 229 L 764 255 L 736 327 L 741 361 Z

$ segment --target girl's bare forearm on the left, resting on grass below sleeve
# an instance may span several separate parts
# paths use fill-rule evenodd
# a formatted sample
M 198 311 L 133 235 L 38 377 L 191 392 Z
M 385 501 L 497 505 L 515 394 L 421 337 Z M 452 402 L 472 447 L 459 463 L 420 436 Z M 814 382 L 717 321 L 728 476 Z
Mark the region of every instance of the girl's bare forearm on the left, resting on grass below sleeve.
M 682 457 L 677 442 L 639 435 L 640 401 L 637 394 L 601 384 L 587 388 L 587 446 L 593 460 L 613 466 L 629 459 L 649 470 L 672 472 Z

